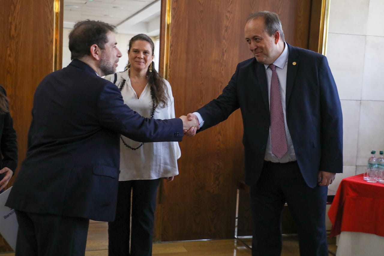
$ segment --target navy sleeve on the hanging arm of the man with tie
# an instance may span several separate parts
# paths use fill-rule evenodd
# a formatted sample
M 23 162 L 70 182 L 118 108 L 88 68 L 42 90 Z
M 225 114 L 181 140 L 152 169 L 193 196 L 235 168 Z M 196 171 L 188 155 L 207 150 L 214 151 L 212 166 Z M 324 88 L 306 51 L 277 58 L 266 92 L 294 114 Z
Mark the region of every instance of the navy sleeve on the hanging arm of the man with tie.
M 326 57 L 319 68 L 321 109 L 320 171 L 343 172 L 343 114 L 336 83 Z

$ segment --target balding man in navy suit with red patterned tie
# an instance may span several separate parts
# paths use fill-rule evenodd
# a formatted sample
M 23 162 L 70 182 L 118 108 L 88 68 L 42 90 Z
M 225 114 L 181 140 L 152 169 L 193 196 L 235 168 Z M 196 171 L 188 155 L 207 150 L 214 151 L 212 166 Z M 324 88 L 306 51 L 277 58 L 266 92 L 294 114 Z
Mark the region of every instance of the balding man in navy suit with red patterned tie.
M 276 13 L 251 15 L 245 39 L 255 58 L 239 63 L 222 94 L 188 117 L 199 120 L 201 131 L 241 110 L 252 255 L 281 254 L 285 203 L 300 255 L 328 255 L 326 199 L 335 173 L 343 171 L 343 123 L 327 59 L 286 43 Z

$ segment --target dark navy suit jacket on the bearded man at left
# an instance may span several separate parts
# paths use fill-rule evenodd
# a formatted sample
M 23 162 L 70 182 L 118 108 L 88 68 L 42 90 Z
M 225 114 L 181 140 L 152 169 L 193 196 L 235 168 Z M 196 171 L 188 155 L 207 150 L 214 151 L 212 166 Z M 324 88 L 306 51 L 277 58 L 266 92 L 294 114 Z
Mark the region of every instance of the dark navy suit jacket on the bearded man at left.
M 79 60 L 41 81 L 32 116 L 27 155 L 6 204 L 30 213 L 112 221 L 119 135 L 142 142 L 183 136 L 179 118 L 143 118 L 116 85 Z

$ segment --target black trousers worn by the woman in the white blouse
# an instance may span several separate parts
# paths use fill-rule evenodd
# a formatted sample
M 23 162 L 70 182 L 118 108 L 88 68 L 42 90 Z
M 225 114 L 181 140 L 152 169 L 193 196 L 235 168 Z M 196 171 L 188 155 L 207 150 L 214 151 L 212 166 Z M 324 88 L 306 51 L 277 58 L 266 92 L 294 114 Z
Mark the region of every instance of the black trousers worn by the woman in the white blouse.
M 113 222 L 108 223 L 109 256 L 152 255 L 156 194 L 159 182 L 160 179 L 119 181 L 116 218 Z M 132 222 L 130 221 L 131 210 Z M 131 239 L 129 239 L 130 232 Z M 131 250 L 129 250 L 129 241 L 131 241 Z

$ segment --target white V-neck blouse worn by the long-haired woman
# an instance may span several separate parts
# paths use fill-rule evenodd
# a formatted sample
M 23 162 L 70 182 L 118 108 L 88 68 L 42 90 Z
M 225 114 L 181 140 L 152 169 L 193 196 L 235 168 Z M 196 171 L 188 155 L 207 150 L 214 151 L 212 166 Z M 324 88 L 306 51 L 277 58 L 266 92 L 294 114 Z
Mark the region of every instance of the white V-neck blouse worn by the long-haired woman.
M 118 72 L 116 86 L 120 88 L 122 78 L 126 80 L 121 90 L 124 103 L 132 110 L 144 117 L 151 117 L 152 97 L 151 88 L 147 84 L 142 91 L 140 98 L 137 98 L 128 75 L 129 70 Z M 108 75 L 105 79 L 113 82 L 114 75 Z M 165 108 L 158 106 L 154 112 L 156 119 L 175 118 L 174 98 L 172 89 L 167 80 L 164 80 L 168 89 L 168 103 Z M 122 136 L 124 142 L 132 148 L 137 148 L 141 142 L 133 141 Z M 175 176 L 179 174 L 177 159 L 181 156 L 178 142 L 152 142 L 144 143 L 137 150 L 127 148 L 120 140 L 120 175 L 119 181 L 126 180 L 154 180 Z

